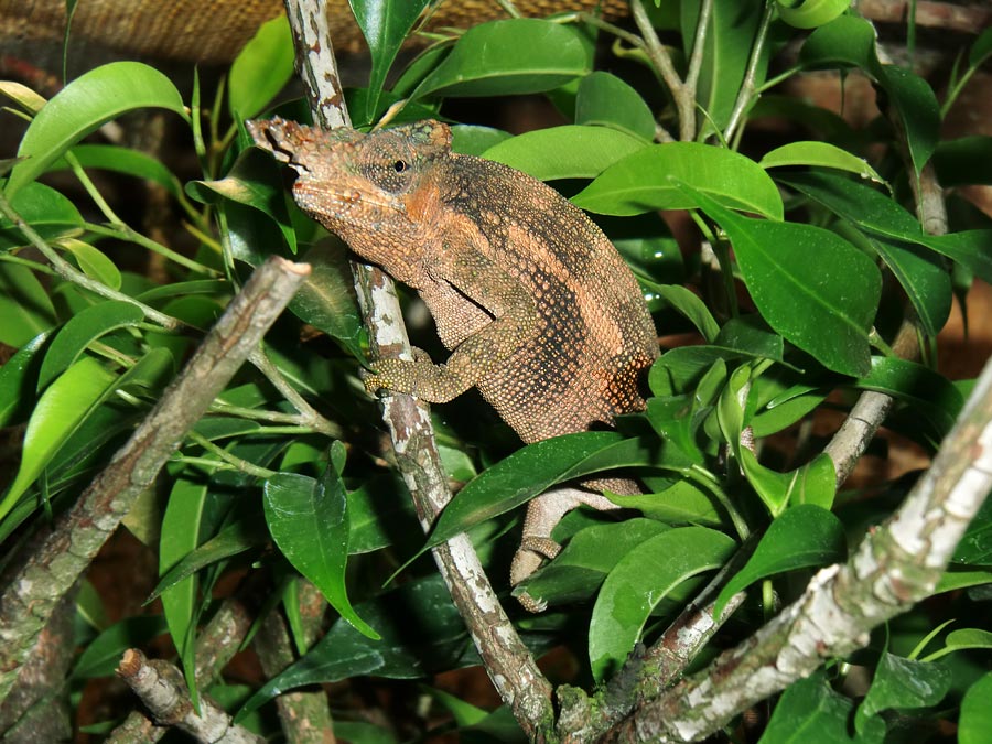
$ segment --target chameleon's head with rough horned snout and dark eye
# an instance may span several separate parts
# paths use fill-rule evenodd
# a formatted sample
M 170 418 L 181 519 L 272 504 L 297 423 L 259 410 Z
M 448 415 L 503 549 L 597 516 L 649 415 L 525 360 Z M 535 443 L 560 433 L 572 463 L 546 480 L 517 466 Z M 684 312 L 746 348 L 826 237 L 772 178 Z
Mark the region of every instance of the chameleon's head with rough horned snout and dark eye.
M 247 126 L 257 145 L 296 171 L 293 197 L 304 212 L 400 281 L 410 273 L 418 246 L 430 240 L 424 195 L 435 191 L 431 166 L 451 153 L 448 126 L 428 120 L 369 134 L 279 117 Z

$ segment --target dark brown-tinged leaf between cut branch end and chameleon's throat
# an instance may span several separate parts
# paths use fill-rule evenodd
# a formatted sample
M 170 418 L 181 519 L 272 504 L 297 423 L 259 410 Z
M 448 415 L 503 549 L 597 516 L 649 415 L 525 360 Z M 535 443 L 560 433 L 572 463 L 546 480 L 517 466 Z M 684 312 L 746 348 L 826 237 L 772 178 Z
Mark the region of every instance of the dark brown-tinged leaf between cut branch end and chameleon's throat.
M 310 263 L 311 273 L 290 301 L 290 311 L 337 338 L 356 358 L 365 358 L 360 344 L 362 317 L 344 245 L 317 244 L 301 260 Z

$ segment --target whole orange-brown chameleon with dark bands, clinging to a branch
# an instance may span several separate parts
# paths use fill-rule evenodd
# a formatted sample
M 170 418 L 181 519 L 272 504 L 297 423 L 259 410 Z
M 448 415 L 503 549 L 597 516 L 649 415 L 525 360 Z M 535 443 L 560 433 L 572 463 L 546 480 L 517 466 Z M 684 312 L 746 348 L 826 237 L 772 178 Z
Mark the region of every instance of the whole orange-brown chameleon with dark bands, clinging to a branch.
M 295 171 L 292 193 L 305 213 L 419 293 L 450 349 L 440 365 L 422 352 L 412 362 L 379 359 L 367 390 L 441 403 L 475 387 L 525 443 L 644 408 L 640 385 L 658 337 L 637 280 L 557 191 L 453 152 L 450 128 L 434 120 L 368 134 L 280 118 L 249 121 L 248 130 Z M 596 493 L 604 487 L 638 492 L 614 478 L 530 502 L 511 583 L 557 554 L 551 529 L 569 509 L 616 508 Z

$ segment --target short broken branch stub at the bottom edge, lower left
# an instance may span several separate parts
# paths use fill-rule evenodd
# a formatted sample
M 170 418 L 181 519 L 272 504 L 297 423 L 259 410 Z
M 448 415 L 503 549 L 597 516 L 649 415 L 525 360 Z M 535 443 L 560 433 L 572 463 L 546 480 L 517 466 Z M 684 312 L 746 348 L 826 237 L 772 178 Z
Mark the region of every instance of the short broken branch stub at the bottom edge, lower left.
M 204 744 L 265 744 L 265 738 L 240 725 L 214 702 L 202 697 L 200 713 L 193 710 L 182 672 L 161 659 L 147 659 L 137 648 L 125 651 L 117 673 L 128 683 L 152 718 Z

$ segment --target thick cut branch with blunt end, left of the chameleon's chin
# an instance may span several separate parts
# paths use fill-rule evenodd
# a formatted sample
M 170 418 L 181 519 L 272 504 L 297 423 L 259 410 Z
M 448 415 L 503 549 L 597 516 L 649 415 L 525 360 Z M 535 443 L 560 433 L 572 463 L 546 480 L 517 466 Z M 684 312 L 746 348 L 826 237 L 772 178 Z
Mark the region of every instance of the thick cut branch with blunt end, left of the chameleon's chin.
M 87 569 L 138 494 L 154 482 L 309 271 L 306 265 L 279 258 L 255 271 L 110 464 L 60 517 L 37 550 L 12 569 L 13 578 L 0 594 L 0 700 L 58 600 Z

